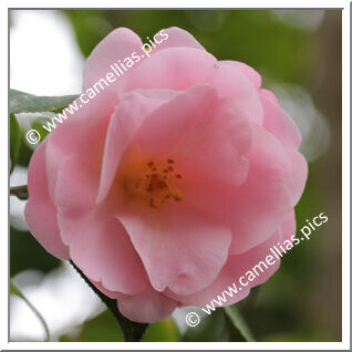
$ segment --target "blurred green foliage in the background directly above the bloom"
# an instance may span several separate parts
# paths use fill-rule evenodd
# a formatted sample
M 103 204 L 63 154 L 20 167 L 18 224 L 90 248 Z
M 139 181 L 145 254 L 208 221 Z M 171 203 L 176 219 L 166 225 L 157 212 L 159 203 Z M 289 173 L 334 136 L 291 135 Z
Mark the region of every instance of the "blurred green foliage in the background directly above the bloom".
M 126 27 L 142 41 L 162 28 L 189 31 L 220 60 L 244 61 L 270 79 L 302 83 L 314 65 L 314 33 L 284 25 L 260 10 L 66 10 L 80 49 L 87 56 L 113 29 Z M 94 25 L 100 23 L 100 25 Z M 280 53 L 278 55 L 278 53 Z M 265 72 L 263 72 L 265 71 Z

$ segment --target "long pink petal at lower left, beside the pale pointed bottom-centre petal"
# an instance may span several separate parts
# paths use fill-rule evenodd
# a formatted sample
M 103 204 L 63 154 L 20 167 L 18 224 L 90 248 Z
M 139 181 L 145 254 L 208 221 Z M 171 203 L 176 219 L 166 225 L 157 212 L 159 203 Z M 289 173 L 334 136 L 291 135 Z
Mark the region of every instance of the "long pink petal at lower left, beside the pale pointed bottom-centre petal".
M 138 293 L 147 283 L 142 261 L 123 226 L 95 205 L 97 186 L 99 173 L 91 164 L 80 157 L 64 163 L 55 188 L 62 238 L 91 280 L 110 291 Z

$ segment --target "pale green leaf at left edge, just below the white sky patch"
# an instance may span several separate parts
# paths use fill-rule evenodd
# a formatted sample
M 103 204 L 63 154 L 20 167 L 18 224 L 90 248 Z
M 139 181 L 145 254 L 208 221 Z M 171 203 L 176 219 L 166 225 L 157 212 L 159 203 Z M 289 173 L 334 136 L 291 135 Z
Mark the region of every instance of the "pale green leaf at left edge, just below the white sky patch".
M 29 93 L 10 90 L 10 114 L 60 112 L 79 95 L 37 96 Z

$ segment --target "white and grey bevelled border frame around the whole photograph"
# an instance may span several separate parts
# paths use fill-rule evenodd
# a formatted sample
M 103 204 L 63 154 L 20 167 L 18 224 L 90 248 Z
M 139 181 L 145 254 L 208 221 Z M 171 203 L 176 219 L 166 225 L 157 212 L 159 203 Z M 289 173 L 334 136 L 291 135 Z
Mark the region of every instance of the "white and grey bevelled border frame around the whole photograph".
M 85 8 L 96 8 L 94 0 L 84 1 Z M 100 8 L 114 8 L 116 2 L 108 0 L 100 0 Z M 139 1 L 128 1 L 126 4 L 130 8 L 166 8 L 166 2 L 162 1 L 148 1 L 143 3 Z M 8 283 L 8 211 L 9 211 L 9 185 L 8 175 L 1 173 L 2 187 L 0 188 L 1 199 L 1 224 L 3 224 L 3 230 L 1 236 L 0 246 L 0 272 L 2 288 L 0 291 L 0 349 L 1 350 L 350 350 L 350 2 L 349 1 L 311 1 L 311 0 L 296 0 L 283 1 L 270 0 L 260 2 L 259 0 L 238 0 L 224 1 L 217 0 L 216 2 L 208 2 L 205 6 L 204 1 L 190 1 L 178 0 L 167 2 L 167 8 L 238 8 L 238 9 L 270 9 L 270 8 L 343 8 L 342 11 L 342 342 L 8 342 L 8 287 L 4 287 L 4 282 Z M 265 6 L 265 7 L 263 7 Z M 48 9 L 61 9 L 61 8 L 82 8 L 82 1 L 77 0 L 33 0 L 29 3 L 28 0 L 6 0 L 0 4 L 0 39 L 2 48 L 7 48 L 9 55 L 8 43 L 8 9 L 11 8 L 48 8 Z M 117 8 L 115 8 L 117 9 Z M 123 8 L 121 8 L 123 9 Z M 8 55 L 2 54 L 1 60 L 1 74 L 2 77 L 7 77 L 8 72 Z M 0 118 L 0 128 L 8 133 L 8 120 L 4 116 L 8 115 L 8 111 L 4 106 L 8 106 L 8 80 L 1 81 L 1 110 L 2 118 Z M 2 138 L 3 147 L 1 148 L 1 165 L 6 165 L 8 161 L 8 138 Z M 4 186 L 7 184 L 7 188 Z M 6 200 L 7 199 L 7 200 Z M 4 228 L 7 224 L 7 228 Z

